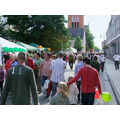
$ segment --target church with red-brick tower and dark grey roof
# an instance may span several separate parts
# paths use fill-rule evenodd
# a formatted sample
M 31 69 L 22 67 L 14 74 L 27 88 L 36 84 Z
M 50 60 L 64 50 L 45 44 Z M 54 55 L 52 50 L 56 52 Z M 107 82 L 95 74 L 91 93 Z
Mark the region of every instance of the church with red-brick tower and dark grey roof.
M 80 36 L 82 40 L 83 52 L 86 52 L 86 37 L 84 29 L 84 16 L 83 15 L 68 15 L 68 31 L 73 40 L 70 40 L 71 47 L 74 47 L 74 39 Z

